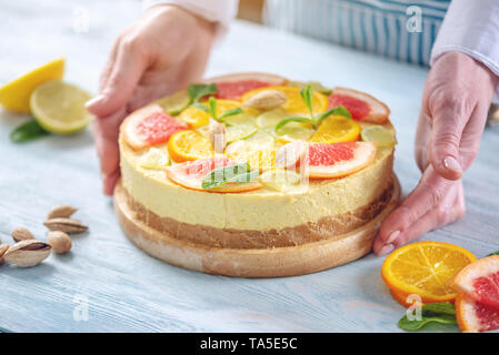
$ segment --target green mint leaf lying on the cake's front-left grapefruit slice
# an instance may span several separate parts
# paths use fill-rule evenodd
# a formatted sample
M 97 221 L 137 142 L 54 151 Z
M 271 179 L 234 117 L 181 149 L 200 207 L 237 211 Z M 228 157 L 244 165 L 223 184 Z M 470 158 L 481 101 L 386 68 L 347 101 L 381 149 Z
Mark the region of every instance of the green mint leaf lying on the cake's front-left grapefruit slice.
M 259 171 L 251 171 L 248 163 L 213 169 L 202 180 L 201 186 L 204 190 L 214 189 L 231 183 L 246 183 L 258 178 Z

